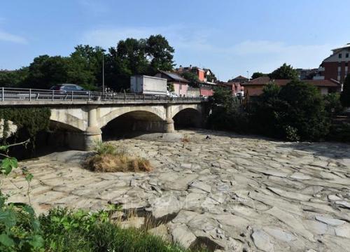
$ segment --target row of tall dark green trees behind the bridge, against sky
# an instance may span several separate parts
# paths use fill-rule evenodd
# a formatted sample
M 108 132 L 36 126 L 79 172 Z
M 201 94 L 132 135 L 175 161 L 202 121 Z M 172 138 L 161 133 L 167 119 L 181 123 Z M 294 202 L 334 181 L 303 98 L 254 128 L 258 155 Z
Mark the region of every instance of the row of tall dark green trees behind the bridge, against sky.
M 172 70 L 173 53 L 174 48 L 161 35 L 127 38 L 108 52 L 99 46 L 77 45 L 69 57 L 41 55 L 23 69 L 0 71 L 0 85 L 48 89 L 59 83 L 74 83 L 98 90 L 104 62 L 106 87 L 127 90 L 134 74 L 153 76 L 158 70 Z

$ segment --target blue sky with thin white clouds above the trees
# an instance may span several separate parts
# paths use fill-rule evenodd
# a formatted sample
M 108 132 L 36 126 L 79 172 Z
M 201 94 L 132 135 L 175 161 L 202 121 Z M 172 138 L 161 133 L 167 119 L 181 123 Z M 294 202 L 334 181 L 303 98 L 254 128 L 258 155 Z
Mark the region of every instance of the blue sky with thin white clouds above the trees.
M 0 69 L 151 34 L 167 38 L 177 66 L 220 80 L 284 62 L 316 68 L 350 43 L 349 10 L 349 0 L 0 0 Z

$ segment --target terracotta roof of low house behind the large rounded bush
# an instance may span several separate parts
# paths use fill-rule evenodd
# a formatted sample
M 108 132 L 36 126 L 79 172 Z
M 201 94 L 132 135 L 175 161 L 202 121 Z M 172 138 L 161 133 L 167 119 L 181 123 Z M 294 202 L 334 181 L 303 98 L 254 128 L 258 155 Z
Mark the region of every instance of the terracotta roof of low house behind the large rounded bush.
M 249 85 L 266 85 L 272 80 L 267 76 L 262 76 L 259 78 L 255 78 L 251 81 L 246 81 L 245 83 L 241 83 L 243 86 Z M 291 80 L 273 80 L 276 85 L 283 86 L 290 83 Z M 302 80 L 304 83 L 309 83 L 316 87 L 339 87 L 340 83 L 337 80 Z

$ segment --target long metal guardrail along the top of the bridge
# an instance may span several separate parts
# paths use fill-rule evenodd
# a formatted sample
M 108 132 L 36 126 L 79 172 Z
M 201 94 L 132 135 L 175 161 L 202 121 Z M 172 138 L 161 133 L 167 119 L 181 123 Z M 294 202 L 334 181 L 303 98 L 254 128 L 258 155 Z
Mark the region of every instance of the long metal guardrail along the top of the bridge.
M 204 97 L 168 97 L 157 94 L 123 94 L 117 92 L 58 91 L 12 87 L 0 87 L 0 102 L 10 100 L 27 101 L 206 101 Z M 1 104 L 1 103 L 0 103 Z

